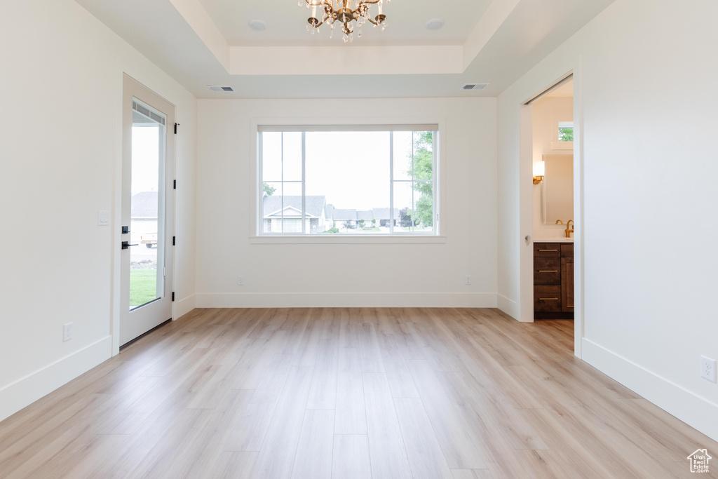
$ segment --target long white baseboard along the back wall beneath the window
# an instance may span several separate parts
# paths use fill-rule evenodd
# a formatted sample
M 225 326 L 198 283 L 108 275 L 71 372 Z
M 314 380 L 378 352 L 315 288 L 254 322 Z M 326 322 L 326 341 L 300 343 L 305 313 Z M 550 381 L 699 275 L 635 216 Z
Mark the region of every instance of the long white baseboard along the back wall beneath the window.
M 491 293 L 198 293 L 197 307 L 496 307 Z

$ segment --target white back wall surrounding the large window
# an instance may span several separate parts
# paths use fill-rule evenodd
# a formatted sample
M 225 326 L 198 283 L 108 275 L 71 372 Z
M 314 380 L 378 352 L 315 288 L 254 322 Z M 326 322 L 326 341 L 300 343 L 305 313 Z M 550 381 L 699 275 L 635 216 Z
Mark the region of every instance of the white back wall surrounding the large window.
M 495 113 L 495 98 L 198 101 L 197 305 L 495 306 Z M 445 242 L 251 242 L 257 118 L 440 121 Z

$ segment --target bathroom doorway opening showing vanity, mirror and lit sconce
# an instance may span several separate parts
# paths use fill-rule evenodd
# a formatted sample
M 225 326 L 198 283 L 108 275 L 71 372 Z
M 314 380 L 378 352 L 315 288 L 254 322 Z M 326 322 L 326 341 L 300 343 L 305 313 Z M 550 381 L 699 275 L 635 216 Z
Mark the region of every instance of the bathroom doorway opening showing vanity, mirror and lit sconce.
M 576 320 L 579 121 L 569 73 L 526 101 L 521 112 L 521 320 Z M 528 183 L 528 172 L 533 181 Z M 531 188 L 531 190 L 528 190 Z M 574 319 L 575 318 L 575 319 Z M 580 325 L 580 323 L 578 324 Z M 574 323 L 575 353 L 582 331 Z

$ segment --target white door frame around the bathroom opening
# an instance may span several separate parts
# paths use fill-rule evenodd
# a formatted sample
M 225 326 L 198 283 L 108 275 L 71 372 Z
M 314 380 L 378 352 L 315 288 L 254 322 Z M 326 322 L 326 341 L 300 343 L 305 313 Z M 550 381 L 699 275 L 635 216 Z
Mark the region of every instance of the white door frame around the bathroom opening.
M 584 118 L 583 60 L 579 55 L 571 70 L 536 88 L 519 105 L 519 317 L 533 322 L 533 118 L 531 102 L 541 93 L 560 83 L 569 75 L 574 81 L 574 355 L 582 358 L 584 338 Z M 529 236 L 531 241 L 524 241 Z

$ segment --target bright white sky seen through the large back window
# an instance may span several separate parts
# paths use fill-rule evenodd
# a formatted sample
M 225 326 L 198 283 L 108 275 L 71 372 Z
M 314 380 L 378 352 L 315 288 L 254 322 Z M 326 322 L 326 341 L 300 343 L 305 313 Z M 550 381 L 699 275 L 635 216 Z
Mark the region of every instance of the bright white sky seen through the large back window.
M 302 194 L 302 134 L 263 134 L 264 182 L 284 179 L 284 195 Z M 325 195 L 335 208 L 370 210 L 389 206 L 389 134 L 387 131 L 309 131 L 306 134 L 307 195 Z M 411 131 L 394 132 L 394 179 L 411 180 Z M 282 177 L 284 175 L 284 177 Z M 286 181 L 294 181 L 289 183 Z M 281 194 L 281 184 L 274 195 Z M 411 184 L 394 187 L 396 208 L 411 205 Z M 418 195 L 417 195 L 418 199 Z

